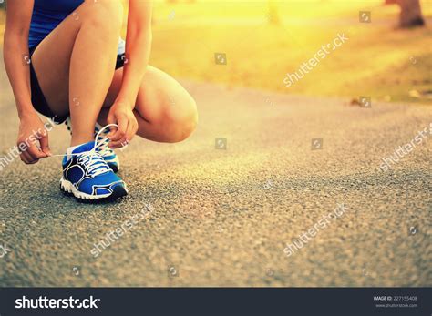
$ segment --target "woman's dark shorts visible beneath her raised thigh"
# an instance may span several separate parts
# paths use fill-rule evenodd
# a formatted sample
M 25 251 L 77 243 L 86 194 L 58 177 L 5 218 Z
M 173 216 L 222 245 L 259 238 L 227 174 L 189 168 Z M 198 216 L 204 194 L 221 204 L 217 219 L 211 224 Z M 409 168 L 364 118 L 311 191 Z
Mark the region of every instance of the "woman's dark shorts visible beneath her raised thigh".
M 35 52 L 36 46 L 31 47 L 30 50 L 30 60 L 33 56 L 33 53 Z M 117 56 L 117 62 L 116 62 L 116 69 L 121 68 L 124 66 L 124 57 L 125 54 L 120 54 Z M 41 87 L 39 86 L 39 81 L 37 80 L 35 68 L 33 67 L 32 63 L 30 62 L 30 86 L 32 90 L 32 104 L 33 107 L 35 107 L 36 111 L 40 114 L 49 117 L 52 119 L 55 123 L 60 124 L 66 121 L 69 114 L 67 113 L 66 116 L 59 117 L 57 116 L 51 108 L 49 108 L 48 103 L 46 102 L 46 98 L 44 96 L 44 93 L 42 92 Z

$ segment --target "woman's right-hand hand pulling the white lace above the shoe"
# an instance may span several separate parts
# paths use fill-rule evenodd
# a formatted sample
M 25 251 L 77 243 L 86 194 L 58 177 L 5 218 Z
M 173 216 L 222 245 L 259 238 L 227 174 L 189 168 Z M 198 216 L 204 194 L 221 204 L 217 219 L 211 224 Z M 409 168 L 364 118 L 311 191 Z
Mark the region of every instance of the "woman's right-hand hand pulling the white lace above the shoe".
M 129 144 L 138 130 L 138 121 L 133 114 L 132 107 L 123 102 L 115 102 L 110 108 L 108 124 L 117 124 L 118 128 L 111 127 L 108 138 L 110 139 L 110 148 L 122 148 Z

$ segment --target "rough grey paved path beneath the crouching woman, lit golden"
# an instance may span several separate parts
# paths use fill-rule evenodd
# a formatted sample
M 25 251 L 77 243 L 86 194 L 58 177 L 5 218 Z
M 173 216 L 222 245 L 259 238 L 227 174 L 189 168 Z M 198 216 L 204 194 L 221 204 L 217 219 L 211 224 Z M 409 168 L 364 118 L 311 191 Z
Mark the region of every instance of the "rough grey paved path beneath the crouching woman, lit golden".
M 0 79 L 5 154 L 17 120 Z M 198 130 L 180 144 L 139 139 L 120 152 L 128 199 L 87 205 L 62 195 L 59 158 L 0 172 L 0 243 L 10 249 L 2 286 L 432 285 L 432 135 L 377 169 L 429 127 L 431 107 L 186 86 Z M 323 147 L 312 150 L 312 138 Z M 65 150 L 64 126 L 51 143 Z M 338 203 L 343 214 L 320 222 Z

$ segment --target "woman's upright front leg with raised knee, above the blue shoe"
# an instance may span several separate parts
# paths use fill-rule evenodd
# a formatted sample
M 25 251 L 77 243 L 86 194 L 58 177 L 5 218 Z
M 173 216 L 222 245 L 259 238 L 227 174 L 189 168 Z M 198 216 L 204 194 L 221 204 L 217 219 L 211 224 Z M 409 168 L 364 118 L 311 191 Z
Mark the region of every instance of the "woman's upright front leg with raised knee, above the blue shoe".
M 118 0 L 86 1 L 46 36 L 32 56 L 51 110 L 59 116 L 70 111 L 71 146 L 94 138 L 114 76 L 122 15 Z

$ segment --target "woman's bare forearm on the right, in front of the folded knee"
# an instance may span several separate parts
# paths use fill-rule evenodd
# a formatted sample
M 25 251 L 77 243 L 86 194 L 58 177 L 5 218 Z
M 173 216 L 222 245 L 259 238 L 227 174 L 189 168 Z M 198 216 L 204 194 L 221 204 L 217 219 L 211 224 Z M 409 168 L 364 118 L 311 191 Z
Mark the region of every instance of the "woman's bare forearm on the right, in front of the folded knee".
M 151 50 L 151 1 L 129 0 L 128 33 L 123 81 L 117 102 L 135 107 L 139 87 L 147 70 Z

